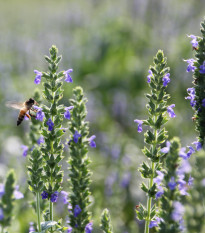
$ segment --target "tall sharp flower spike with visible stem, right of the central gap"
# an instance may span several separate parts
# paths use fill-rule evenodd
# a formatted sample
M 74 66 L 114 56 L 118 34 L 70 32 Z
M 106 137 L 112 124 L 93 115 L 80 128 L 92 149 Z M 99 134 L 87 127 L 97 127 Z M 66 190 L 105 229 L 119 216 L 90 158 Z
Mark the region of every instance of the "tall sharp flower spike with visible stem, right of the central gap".
M 149 126 L 149 129 L 144 134 L 146 146 L 143 153 L 150 160 L 150 164 L 143 163 L 139 171 L 143 178 L 148 179 L 148 186 L 143 182 L 141 189 L 147 194 L 147 207 L 140 204 L 137 207 L 137 217 L 139 220 L 145 220 L 145 233 L 149 232 L 150 222 L 156 217 L 156 208 L 152 204 L 155 195 L 162 195 L 161 187 L 154 182 L 154 178 L 160 173 L 160 149 L 162 144 L 167 139 L 167 132 L 164 124 L 168 121 L 167 113 L 170 117 L 175 117 L 173 111 L 174 104 L 168 106 L 167 100 L 169 95 L 165 90 L 170 82 L 169 68 L 166 67 L 166 58 L 161 50 L 158 51 L 154 58 L 154 66 L 150 67 L 147 82 L 151 88 L 151 93 L 147 94 L 149 102 L 147 104 L 149 117 L 147 120 L 136 119 L 138 124 L 138 132 L 142 132 L 142 125 Z

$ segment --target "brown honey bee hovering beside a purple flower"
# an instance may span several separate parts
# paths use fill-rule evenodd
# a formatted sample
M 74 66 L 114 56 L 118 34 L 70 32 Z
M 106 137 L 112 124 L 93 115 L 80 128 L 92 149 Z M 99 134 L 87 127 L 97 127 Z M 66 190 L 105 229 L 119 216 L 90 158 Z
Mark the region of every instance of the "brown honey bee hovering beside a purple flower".
M 24 103 L 16 103 L 16 102 L 6 103 L 7 107 L 20 109 L 19 116 L 17 119 L 17 126 L 21 124 L 25 116 L 27 116 L 29 119 L 31 119 L 31 117 L 35 117 L 35 115 L 31 114 L 31 111 L 37 112 L 37 110 L 33 108 L 33 105 L 38 105 L 38 103 L 32 98 L 25 101 Z

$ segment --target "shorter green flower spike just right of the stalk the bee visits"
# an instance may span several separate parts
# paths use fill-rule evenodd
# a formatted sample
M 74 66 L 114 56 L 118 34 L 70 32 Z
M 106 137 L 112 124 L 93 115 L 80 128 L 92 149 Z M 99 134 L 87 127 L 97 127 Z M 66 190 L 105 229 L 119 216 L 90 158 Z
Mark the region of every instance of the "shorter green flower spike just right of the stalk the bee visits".
M 92 225 L 91 214 L 88 212 L 90 201 L 89 185 L 91 183 L 88 165 L 90 159 L 87 155 L 88 146 L 95 147 L 95 136 L 88 137 L 89 125 L 85 121 L 87 110 L 87 99 L 84 97 L 83 89 L 76 87 L 73 90 L 74 99 L 70 100 L 73 106 L 69 129 L 71 139 L 69 140 L 69 180 L 71 184 L 70 202 L 70 226 L 73 233 L 91 232 L 86 230 Z

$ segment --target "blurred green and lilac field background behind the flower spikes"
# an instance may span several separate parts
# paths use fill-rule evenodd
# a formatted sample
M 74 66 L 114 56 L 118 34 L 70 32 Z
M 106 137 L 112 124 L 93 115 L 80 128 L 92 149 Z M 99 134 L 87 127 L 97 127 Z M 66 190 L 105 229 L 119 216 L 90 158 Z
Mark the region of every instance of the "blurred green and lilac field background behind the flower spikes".
M 29 124 L 16 127 L 18 112 L 6 109 L 5 102 L 33 95 L 33 70 L 47 70 L 44 55 L 53 44 L 63 56 L 60 69 L 74 69 L 74 82 L 64 85 L 63 102 L 68 105 L 72 88 L 82 86 L 91 135 L 97 136 L 97 148 L 89 153 L 94 232 L 99 232 L 105 207 L 116 233 L 143 232 L 143 223 L 135 217 L 135 205 L 145 203 L 137 171 L 144 160 L 143 135 L 133 120 L 146 118 L 146 76 L 153 56 L 163 49 L 171 68 L 170 104 L 176 104 L 177 115 L 167 124 L 169 136 L 179 136 L 183 146 L 195 140 L 193 112 L 184 99 L 192 78 L 183 59 L 193 53 L 186 35 L 200 35 L 203 17 L 203 0 L 0 1 L 0 180 L 14 168 L 25 193 L 16 205 L 11 232 L 28 232 L 35 214 L 21 151 Z M 58 216 L 65 218 L 66 211 L 56 205 Z

